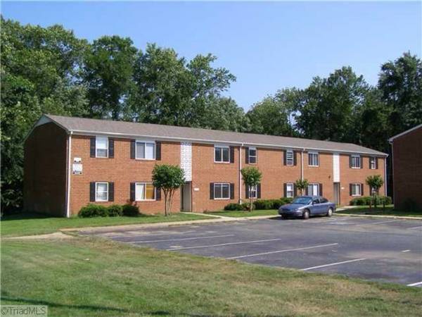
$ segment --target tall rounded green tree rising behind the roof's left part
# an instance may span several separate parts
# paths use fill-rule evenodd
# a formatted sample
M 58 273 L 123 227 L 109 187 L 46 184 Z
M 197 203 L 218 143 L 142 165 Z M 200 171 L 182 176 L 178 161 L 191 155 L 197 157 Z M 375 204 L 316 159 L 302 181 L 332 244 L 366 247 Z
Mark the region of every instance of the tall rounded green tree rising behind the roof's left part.
M 114 35 L 94 40 L 85 56 L 84 82 L 89 92 L 89 115 L 124 117 L 127 99 L 134 89 L 137 49 L 132 39 Z

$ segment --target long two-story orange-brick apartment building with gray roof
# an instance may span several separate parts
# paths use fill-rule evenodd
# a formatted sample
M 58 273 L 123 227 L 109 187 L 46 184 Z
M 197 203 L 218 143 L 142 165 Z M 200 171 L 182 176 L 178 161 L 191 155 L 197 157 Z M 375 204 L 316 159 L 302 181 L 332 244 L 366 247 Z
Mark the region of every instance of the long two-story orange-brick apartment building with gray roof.
M 386 156 L 355 144 L 44 115 L 25 140 L 24 207 L 72 216 L 90 202 L 130 203 L 161 213 L 151 184 L 160 163 L 185 172 L 173 211 L 217 211 L 247 199 L 245 166 L 262 171 L 257 198 L 293 197 L 295 180 L 305 178 L 307 194 L 347 205 L 369 194 L 368 175 L 385 178 Z

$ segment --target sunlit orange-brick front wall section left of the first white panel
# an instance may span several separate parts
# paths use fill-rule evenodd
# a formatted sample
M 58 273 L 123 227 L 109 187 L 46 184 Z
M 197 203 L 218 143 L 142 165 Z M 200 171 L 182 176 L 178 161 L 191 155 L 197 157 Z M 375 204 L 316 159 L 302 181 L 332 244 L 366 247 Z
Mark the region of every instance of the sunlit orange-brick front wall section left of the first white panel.
M 72 214 L 79 212 L 82 206 L 89 204 L 89 182 L 114 182 L 113 202 L 94 202 L 94 204 L 130 204 L 130 183 L 151 182 L 155 164 L 169 163 L 180 165 L 180 143 L 162 142 L 161 160 L 130 159 L 130 139 L 114 139 L 114 158 L 91 158 L 90 137 L 74 135 L 72 137 L 72 161 L 75 157 L 82 159 L 82 175 L 71 176 L 70 210 Z M 164 195 L 160 201 L 136 201 L 141 213 L 162 213 L 164 211 Z M 174 194 L 172 211 L 180 210 L 179 190 Z

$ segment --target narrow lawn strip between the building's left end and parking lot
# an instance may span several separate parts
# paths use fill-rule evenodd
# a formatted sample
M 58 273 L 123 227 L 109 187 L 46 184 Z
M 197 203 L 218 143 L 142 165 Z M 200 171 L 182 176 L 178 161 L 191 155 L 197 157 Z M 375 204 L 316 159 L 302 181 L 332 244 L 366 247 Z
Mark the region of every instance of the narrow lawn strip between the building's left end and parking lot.
M 102 225 L 129 225 L 137 223 L 161 223 L 169 221 L 209 219 L 207 216 L 191 215 L 188 213 L 174 213 L 165 217 L 96 217 L 96 218 L 56 218 L 31 213 L 14 213 L 1 217 L 1 237 L 20 235 L 41 235 L 56 232 L 64 228 L 98 227 Z

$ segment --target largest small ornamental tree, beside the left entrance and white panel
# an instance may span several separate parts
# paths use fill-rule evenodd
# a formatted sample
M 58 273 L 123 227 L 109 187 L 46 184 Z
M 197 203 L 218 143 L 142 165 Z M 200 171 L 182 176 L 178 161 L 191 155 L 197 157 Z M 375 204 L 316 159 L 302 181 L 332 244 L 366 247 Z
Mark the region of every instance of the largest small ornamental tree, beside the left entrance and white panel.
M 153 185 L 164 193 L 164 213 L 169 216 L 172 209 L 172 199 L 176 189 L 185 182 L 184 171 L 176 165 L 155 165 L 153 169 Z

